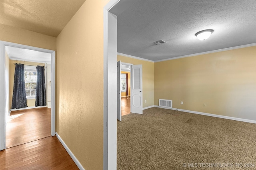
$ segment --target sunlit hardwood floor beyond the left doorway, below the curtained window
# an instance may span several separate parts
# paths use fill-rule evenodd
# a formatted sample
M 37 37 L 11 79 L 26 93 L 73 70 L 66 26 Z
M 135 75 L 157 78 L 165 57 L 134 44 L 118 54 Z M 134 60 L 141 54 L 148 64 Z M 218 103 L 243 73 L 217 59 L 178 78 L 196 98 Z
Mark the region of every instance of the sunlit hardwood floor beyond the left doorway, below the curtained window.
M 51 136 L 51 109 L 12 111 L 6 126 L 6 148 Z

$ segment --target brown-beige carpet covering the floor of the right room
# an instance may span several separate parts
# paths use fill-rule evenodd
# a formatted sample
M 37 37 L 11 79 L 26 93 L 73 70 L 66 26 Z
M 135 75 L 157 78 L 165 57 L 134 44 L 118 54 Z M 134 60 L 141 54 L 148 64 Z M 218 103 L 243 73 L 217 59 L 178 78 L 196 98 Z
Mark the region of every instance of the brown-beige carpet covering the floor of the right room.
M 256 124 L 157 107 L 124 115 L 117 122 L 117 168 L 255 170 Z

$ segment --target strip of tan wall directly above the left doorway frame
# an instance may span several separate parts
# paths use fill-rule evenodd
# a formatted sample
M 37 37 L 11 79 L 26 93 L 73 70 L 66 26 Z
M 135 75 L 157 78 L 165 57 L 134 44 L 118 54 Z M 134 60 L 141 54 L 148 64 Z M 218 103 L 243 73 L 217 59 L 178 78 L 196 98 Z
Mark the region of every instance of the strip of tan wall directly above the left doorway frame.
M 56 38 L 0 24 L 0 40 L 43 49 L 56 50 Z

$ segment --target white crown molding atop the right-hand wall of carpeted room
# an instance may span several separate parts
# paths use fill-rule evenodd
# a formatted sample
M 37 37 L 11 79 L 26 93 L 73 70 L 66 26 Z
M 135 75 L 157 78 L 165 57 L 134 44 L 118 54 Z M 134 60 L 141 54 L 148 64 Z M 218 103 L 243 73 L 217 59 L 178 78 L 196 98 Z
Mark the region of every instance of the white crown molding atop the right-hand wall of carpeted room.
M 181 58 L 186 58 L 186 57 L 193 57 L 193 56 L 197 56 L 197 55 L 204 55 L 204 54 L 210 54 L 210 53 L 217 53 L 217 52 L 221 52 L 221 51 L 228 51 L 228 50 L 234 50 L 234 49 L 252 47 L 252 46 L 256 46 L 256 43 L 247 44 L 247 45 L 240 45 L 240 46 L 230 47 L 230 48 L 226 48 L 226 49 L 218 49 L 218 50 L 213 50 L 213 51 L 206 51 L 206 52 L 203 52 L 203 53 L 196 53 L 196 54 L 184 55 L 184 56 L 179 56 L 179 57 L 173 57 L 173 58 L 170 58 L 170 59 L 157 60 L 157 61 L 154 61 L 154 63 L 161 62 L 161 61 L 168 61 L 168 60 L 181 59 Z

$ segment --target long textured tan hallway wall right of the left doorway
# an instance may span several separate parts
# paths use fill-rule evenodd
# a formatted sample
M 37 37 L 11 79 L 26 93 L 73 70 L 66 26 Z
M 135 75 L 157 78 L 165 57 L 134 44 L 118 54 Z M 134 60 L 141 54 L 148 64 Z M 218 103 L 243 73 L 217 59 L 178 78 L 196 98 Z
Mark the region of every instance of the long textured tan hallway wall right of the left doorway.
M 103 169 L 103 9 L 86 0 L 57 37 L 56 131 L 88 170 Z

